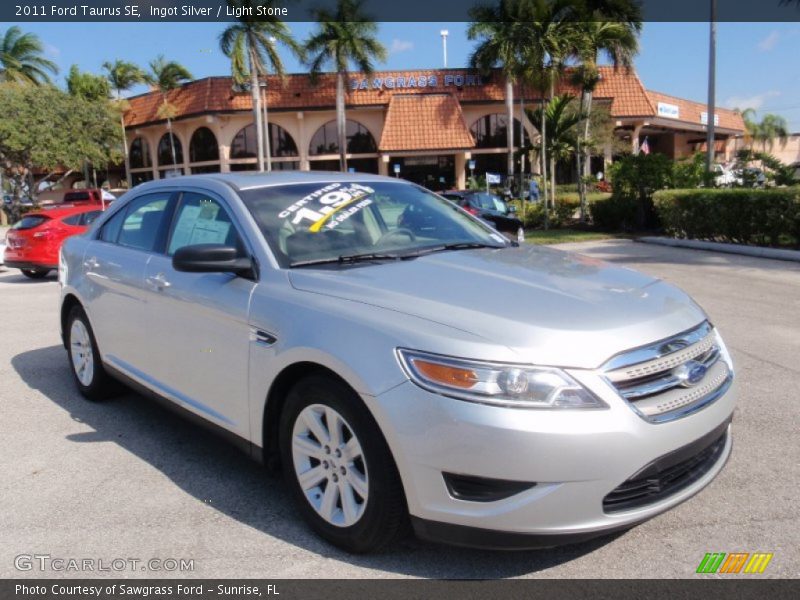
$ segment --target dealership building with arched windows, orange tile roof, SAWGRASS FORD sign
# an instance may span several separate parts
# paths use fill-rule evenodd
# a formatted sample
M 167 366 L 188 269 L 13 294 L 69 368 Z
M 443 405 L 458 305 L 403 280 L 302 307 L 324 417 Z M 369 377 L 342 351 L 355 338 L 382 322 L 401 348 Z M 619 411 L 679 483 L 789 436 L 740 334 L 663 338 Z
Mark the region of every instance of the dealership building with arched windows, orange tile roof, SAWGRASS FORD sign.
M 705 147 L 708 114 L 703 103 L 646 90 L 632 70 L 602 67 L 593 95 L 608 109 L 614 135 L 631 151 L 644 140 L 650 152 L 681 158 Z M 569 81 L 569 77 L 564 77 Z M 558 93 L 579 95 L 568 84 Z M 336 77 L 270 76 L 262 94 L 268 107 L 272 169 L 338 170 Z M 519 105 L 540 101 L 530 88 L 515 89 L 514 140 L 538 141 L 538 130 Z M 168 93 L 172 105 L 173 163 L 163 98 L 150 92 L 129 99 L 125 124 L 134 184 L 173 173 L 208 173 L 256 168 L 256 136 L 249 90 L 230 77 L 208 77 Z M 464 69 L 382 71 L 348 82 L 347 156 L 355 171 L 398 174 L 433 189 L 463 188 L 470 175 L 505 173 L 507 162 L 505 85 L 499 73 L 482 77 Z M 717 109 L 717 154 L 744 131 L 741 115 Z M 619 148 L 620 144 L 616 145 Z M 609 145 L 589 169 L 613 160 Z M 516 154 L 517 167 L 530 172 Z M 533 171 L 538 165 L 533 165 Z M 568 169 L 565 177 L 574 177 Z

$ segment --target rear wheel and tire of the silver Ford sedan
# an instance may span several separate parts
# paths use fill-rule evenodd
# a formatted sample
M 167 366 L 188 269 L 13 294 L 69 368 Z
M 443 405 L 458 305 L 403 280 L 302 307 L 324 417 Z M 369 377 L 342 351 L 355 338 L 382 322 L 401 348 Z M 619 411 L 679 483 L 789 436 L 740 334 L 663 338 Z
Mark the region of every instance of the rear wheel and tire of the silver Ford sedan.
M 119 393 L 120 385 L 103 368 L 97 341 L 86 313 L 74 306 L 67 317 L 67 354 L 78 391 L 87 400 L 105 400 Z

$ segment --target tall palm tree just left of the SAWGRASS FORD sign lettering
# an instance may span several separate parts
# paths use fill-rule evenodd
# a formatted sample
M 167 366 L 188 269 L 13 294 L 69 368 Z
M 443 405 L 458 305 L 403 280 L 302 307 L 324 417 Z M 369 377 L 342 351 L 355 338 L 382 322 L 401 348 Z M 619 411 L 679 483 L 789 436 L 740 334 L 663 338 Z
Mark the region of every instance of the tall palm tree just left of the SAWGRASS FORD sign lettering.
M 345 117 L 345 80 L 348 67 L 354 64 L 369 77 L 373 61 L 386 60 L 386 48 L 375 34 L 377 24 L 362 10 L 364 0 L 338 0 L 336 10 L 314 10 L 317 32 L 306 41 L 312 78 L 331 64 L 336 71 L 336 132 L 339 138 L 339 169 L 347 171 L 347 119 Z

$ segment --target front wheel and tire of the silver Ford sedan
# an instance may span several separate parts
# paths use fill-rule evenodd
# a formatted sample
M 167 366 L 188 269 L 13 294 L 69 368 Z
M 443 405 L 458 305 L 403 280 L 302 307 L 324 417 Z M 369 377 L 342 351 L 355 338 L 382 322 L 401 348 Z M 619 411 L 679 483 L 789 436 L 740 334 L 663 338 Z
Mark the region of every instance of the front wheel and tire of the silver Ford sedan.
M 331 420 L 341 424 L 334 435 Z M 348 552 L 374 552 L 410 530 L 389 447 L 361 399 L 343 382 L 311 375 L 295 384 L 281 412 L 279 444 L 296 506 L 328 542 Z M 301 474 L 306 474 L 305 489 Z

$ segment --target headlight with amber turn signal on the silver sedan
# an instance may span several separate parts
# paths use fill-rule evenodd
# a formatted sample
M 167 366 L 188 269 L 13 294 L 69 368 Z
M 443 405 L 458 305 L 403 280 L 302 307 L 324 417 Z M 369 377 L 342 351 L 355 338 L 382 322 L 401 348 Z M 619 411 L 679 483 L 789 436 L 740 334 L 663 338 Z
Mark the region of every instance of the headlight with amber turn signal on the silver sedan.
M 411 380 L 461 400 L 517 408 L 608 408 L 561 369 L 489 363 L 398 348 Z

